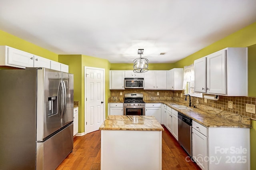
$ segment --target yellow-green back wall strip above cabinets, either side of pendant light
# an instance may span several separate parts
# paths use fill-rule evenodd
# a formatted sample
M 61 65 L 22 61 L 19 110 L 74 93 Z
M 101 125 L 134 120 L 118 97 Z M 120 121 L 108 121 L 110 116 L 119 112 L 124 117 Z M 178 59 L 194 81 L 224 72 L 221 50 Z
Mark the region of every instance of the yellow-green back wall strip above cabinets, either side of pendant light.
M 149 70 L 170 70 L 174 68 L 174 64 L 172 63 L 150 63 L 148 61 L 148 69 Z M 112 63 L 111 70 L 132 70 L 132 63 Z

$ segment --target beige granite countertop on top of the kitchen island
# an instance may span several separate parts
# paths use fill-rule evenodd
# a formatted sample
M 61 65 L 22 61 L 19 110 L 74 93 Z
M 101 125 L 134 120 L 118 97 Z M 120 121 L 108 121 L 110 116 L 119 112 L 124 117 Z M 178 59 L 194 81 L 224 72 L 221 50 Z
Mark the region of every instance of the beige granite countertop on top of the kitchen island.
M 162 131 L 164 128 L 154 116 L 109 115 L 100 130 L 151 130 Z

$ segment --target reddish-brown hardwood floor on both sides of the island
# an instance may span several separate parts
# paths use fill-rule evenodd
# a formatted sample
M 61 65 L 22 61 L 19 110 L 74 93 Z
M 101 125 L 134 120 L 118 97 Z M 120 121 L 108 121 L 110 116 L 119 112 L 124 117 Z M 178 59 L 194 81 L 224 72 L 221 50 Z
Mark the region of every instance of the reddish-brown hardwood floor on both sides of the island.
M 162 132 L 162 170 L 200 170 L 194 162 L 187 162 L 186 156 L 188 155 L 177 140 L 164 127 Z M 100 130 L 84 136 L 75 136 L 73 152 L 63 160 L 56 170 L 100 170 Z

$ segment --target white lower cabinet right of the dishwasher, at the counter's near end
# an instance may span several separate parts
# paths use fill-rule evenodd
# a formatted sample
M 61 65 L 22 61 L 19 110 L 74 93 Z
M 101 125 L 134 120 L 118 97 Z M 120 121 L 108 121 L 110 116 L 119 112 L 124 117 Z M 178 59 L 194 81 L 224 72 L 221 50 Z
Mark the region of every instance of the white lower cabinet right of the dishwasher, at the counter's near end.
M 250 169 L 250 128 L 207 128 L 195 121 L 192 127 L 192 156 L 202 170 Z

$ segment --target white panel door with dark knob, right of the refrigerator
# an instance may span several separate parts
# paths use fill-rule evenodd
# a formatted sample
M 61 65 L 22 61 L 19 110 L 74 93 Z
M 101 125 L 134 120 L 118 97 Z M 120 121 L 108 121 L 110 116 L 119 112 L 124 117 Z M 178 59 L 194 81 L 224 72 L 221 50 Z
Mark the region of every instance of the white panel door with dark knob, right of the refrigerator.
M 85 132 L 99 130 L 104 121 L 104 70 L 85 69 Z

